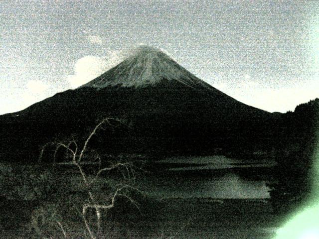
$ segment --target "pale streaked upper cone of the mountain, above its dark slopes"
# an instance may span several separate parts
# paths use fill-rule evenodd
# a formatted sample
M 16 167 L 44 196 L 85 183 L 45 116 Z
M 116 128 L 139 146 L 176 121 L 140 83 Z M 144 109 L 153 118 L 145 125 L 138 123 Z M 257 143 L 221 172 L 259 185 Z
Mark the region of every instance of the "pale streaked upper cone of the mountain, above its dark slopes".
M 207 85 L 160 49 L 141 46 L 127 59 L 82 87 L 146 87 L 163 81 Z

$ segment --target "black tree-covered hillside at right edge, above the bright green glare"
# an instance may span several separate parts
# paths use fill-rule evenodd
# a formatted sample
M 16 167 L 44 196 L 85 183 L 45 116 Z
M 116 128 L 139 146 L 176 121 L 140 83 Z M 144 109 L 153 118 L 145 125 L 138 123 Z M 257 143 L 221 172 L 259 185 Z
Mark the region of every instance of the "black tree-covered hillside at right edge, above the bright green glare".
M 274 181 L 270 183 L 271 202 L 276 213 L 301 206 L 312 193 L 315 152 L 319 140 L 319 99 L 283 114 L 277 138 Z

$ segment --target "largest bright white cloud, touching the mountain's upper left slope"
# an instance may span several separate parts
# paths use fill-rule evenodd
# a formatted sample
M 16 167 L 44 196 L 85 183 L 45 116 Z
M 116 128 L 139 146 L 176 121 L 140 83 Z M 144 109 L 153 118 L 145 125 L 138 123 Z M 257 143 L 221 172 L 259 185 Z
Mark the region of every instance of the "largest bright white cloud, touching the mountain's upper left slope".
M 67 81 L 75 89 L 116 66 L 122 58 L 116 51 L 109 52 L 108 57 L 84 56 L 75 63 L 74 74 L 67 76 Z

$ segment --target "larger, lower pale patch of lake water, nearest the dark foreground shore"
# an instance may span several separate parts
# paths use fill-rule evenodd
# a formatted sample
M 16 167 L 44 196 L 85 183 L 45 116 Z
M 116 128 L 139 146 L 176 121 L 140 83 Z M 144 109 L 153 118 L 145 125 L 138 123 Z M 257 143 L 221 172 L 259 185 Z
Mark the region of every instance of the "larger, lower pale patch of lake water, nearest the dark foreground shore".
M 180 180 L 162 178 L 142 185 L 144 191 L 160 199 L 166 198 L 269 198 L 269 188 L 264 181 L 248 181 L 238 175 Z

